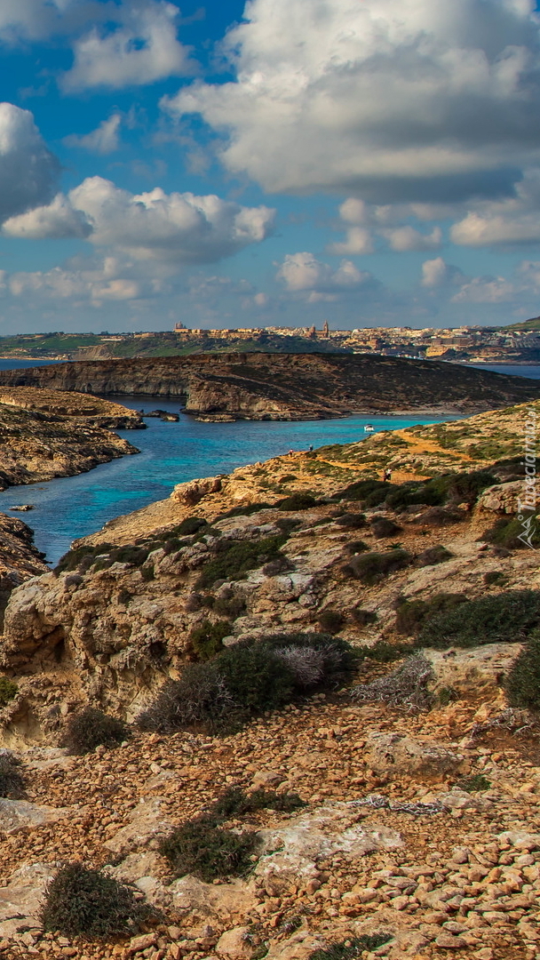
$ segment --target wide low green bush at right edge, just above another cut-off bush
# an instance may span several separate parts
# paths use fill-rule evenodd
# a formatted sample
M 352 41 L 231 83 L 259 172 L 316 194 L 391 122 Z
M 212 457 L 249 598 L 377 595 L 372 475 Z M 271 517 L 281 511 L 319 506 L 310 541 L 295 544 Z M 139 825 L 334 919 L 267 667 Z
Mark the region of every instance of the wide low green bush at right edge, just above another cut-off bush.
M 506 590 L 460 604 L 429 619 L 418 644 L 446 650 L 484 643 L 519 643 L 540 626 L 540 590 Z

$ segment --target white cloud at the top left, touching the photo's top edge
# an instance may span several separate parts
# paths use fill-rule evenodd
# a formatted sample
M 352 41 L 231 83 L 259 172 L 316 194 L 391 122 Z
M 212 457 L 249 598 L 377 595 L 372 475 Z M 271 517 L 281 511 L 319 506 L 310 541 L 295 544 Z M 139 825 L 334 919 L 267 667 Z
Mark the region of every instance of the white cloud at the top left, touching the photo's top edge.
M 176 38 L 178 8 L 166 0 L 127 3 L 109 33 L 94 27 L 74 45 L 74 64 L 60 80 L 68 91 L 153 84 L 193 73 L 189 48 Z

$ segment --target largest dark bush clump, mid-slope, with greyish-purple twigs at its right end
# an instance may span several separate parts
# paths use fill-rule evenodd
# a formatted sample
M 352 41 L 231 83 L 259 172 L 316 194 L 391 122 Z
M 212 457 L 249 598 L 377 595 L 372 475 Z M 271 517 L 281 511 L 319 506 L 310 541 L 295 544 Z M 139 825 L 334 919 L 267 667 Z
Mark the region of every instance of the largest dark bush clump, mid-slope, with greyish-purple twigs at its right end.
M 179 680 L 164 684 L 137 724 L 158 732 L 194 724 L 231 732 L 306 689 L 339 685 L 355 662 L 348 643 L 325 634 L 247 639 L 208 663 L 188 664 Z

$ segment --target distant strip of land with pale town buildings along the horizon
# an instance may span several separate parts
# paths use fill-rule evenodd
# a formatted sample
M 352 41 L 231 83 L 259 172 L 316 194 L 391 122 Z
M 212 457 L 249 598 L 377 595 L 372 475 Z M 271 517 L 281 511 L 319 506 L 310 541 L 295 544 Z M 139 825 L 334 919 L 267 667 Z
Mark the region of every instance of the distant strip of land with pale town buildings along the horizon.
M 332 329 L 316 326 L 266 326 L 203 329 L 181 322 L 173 330 L 137 333 L 18 334 L 0 337 L 4 358 L 101 360 L 108 357 L 185 356 L 226 350 L 269 352 L 374 353 L 464 363 L 540 363 L 540 318 L 508 326 L 411 326 Z

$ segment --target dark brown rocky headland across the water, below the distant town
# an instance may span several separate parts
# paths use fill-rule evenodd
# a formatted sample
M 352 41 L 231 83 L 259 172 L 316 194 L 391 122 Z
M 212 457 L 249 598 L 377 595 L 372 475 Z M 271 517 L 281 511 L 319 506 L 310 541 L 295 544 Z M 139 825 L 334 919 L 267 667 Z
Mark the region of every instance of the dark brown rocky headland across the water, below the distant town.
M 313 420 L 352 413 L 477 412 L 540 394 L 536 381 L 380 356 L 227 353 L 55 364 L 0 372 L 0 385 L 174 396 L 202 419 Z

